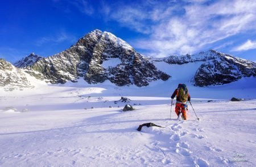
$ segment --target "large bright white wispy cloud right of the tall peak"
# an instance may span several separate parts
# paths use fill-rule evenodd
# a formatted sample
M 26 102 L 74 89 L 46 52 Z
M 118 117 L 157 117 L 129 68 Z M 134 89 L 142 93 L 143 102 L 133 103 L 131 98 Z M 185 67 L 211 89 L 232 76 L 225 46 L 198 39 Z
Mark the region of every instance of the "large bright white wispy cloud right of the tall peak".
M 105 14 L 121 26 L 147 34 L 138 49 L 163 57 L 195 53 L 205 46 L 256 29 L 256 1 L 143 1 L 114 4 Z

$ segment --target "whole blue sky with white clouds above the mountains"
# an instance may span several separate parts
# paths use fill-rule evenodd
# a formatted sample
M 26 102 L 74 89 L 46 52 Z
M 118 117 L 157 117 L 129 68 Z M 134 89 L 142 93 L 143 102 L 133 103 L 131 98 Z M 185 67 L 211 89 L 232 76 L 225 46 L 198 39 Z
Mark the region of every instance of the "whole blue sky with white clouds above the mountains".
M 153 57 L 214 49 L 256 62 L 255 0 L 23 0 L 0 6 L 0 58 L 48 57 L 94 29 Z

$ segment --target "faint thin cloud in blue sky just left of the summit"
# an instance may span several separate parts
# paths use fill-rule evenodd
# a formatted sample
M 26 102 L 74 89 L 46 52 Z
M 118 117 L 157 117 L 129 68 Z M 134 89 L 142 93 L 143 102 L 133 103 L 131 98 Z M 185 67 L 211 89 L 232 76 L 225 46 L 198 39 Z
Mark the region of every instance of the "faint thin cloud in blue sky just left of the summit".
M 67 33 L 65 32 L 60 32 L 56 36 L 48 36 L 48 37 L 40 38 L 39 40 L 36 41 L 35 45 L 36 46 L 42 46 L 43 44 L 56 45 L 64 41 L 75 42 L 76 37 L 72 35 L 67 35 Z

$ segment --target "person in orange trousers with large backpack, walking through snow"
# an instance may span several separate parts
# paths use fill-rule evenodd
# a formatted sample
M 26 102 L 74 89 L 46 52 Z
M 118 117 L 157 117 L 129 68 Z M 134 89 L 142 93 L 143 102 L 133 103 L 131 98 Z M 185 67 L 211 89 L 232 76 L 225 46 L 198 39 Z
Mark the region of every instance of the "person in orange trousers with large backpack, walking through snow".
M 175 113 L 177 114 L 178 119 L 180 119 L 181 117 L 184 120 L 187 120 L 185 108 L 187 108 L 187 101 L 190 101 L 191 99 L 188 93 L 187 86 L 185 84 L 179 84 L 177 89 L 175 89 L 174 93 L 172 94 L 171 98 L 174 99 L 175 96 L 176 96 Z

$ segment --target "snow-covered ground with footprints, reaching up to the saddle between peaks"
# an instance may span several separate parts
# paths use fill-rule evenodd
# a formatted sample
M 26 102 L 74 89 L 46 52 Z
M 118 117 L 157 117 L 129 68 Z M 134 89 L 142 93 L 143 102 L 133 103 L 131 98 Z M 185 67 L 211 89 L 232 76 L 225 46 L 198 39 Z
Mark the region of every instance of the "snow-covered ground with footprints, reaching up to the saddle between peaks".
M 199 88 L 190 81 L 200 62 L 155 65 L 172 78 L 141 88 L 31 79 L 33 89 L 0 89 L 0 166 L 255 166 L 256 79 Z M 191 106 L 177 121 L 172 105 L 170 119 L 179 83 L 200 121 Z M 136 110 L 122 112 L 126 104 Z M 136 130 L 148 122 L 164 128 Z

